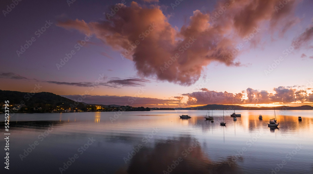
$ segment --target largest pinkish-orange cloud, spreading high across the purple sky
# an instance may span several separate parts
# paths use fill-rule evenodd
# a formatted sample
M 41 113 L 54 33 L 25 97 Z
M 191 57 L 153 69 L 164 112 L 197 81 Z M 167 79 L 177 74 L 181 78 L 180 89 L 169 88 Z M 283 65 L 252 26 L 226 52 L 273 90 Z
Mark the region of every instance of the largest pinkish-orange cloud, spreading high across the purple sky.
M 131 2 L 130 6 L 116 4 L 119 11 L 101 22 L 87 23 L 76 19 L 56 25 L 95 35 L 121 52 L 122 56 L 134 61 L 140 75 L 191 85 L 199 79 L 203 67 L 212 61 L 227 66 L 242 66 L 235 61 L 239 53 L 231 55 L 230 52 L 256 28 L 268 26 L 266 22 L 269 22 L 269 31 L 273 33 L 284 33 L 294 26 L 298 22 L 294 17 L 296 1 L 290 0 L 276 11 L 275 6 L 280 1 L 220 0 L 212 14 L 195 10 L 189 22 L 180 30 L 168 22 L 160 6 L 141 7 L 136 2 Z M 214 19 L 214 12 L 225 6 L 226 2 L 230 6 L 222 17 Z M 261 34 L 256 34 L 249 42 L 257 46 L 261 38 Z M 175 54 L 179 57 L 175 58 Z

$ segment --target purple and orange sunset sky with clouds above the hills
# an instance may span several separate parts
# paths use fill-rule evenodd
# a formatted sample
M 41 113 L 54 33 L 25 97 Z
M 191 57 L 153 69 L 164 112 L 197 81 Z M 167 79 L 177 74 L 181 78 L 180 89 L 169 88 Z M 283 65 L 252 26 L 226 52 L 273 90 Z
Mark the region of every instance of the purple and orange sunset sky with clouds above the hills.
M 0 90 L 134 107 L 313 106 L 312 7 L 3 0 Z

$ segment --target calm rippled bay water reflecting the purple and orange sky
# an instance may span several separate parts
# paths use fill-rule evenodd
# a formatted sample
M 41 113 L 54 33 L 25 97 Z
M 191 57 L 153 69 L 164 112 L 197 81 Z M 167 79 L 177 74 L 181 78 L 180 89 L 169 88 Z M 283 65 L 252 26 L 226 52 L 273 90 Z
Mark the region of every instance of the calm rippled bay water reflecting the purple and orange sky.
M 236 122 L 225 111 L 226 127 L 223 111 L 213 111 L 213 123 L 206 112 L 123 112 L 115 120 L 114 112 L 15 114 L 5 172 L 313 173 L 312 111 L 277 111 L 278 129 L 267 126 L 273 111 L 237 111 Z M 3 164 L 3 138 L 0 144 Z

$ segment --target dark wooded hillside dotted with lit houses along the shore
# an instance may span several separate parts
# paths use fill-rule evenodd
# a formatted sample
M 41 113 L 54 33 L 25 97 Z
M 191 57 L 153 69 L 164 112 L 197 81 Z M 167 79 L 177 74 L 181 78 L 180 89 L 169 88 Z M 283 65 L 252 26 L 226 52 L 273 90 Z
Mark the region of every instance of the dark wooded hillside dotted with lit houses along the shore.
M 18 92 L 0 90 L 0 113 L 3 112 L 4 101 L 9 101 L 10 112 L 74 112 L 75 111 L 150 111 L 148 107 L 131 107 L 120 105 L 101 105 L 75 102 L 71 99 L 51 92 Z M 101 106 L 98 108 L 95 106 Z M 14 108 L 15 107 L 15 108 Z M 18 108 L 18 110 L 13 110 Z

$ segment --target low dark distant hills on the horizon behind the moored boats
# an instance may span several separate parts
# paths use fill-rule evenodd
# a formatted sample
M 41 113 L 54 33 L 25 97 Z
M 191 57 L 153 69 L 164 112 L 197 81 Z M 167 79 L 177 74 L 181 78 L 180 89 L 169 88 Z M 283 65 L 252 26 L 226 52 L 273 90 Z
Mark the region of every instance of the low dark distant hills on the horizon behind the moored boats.
M 212 105 L 205 105 L 205 106 L 198 106 L 198 107 L 177 107 L 174 108 L 175 110 L 233 110 L 234 106 L 233 105 L 217 105 L 217 104 L 212 104 Z M 243 107 L 236 105 L 235 106 L 236 110 L 274 110 L 274 107 Z M 313 110 L 313 107 L 309 105 L 303 105 L 303 106 L 298 106 L 298 107 L 290 107 L 290 106 L 279 106 L 275 107 L 275 110 Z

